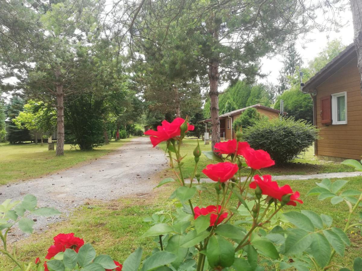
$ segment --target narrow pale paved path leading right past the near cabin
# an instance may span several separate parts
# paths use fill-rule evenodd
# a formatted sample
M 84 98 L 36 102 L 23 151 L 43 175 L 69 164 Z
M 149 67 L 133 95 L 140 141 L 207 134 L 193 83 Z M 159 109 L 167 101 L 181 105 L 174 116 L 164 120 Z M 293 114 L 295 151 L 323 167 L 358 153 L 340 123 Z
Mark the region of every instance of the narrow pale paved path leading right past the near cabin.
M 310 174 L 310 175 L 277 175 L 272 176 L 272 180 L 310 180 L 310 179 L 324 179 L 324 178 L 345 178 L 345 177 L 355 177 L 362 176 L 361 171 L 355 172 L 335 172 L 335 173 L 318 173 L 318 174 Z M 242 177 L 241 181 L 245 181 L 246 177 Z M 201 182 L 214 182 L 209 178 L 201 178 Z M 190 183 L 189 180 L 186 182 Z

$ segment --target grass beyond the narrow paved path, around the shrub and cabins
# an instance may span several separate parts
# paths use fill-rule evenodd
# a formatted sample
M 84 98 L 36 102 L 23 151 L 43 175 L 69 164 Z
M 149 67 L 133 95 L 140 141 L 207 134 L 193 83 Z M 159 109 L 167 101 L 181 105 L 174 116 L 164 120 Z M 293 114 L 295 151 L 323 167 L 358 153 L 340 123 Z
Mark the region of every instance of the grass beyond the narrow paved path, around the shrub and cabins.
M 201 151 L 211 151 L 211 145 L 204 145 L 202 140 L 199 140 Z M 161 143 L 159 145 L 161 149 L 166 150 L 166 144 Z M 183 144 L 181 146 L 181 154 L 182 156 L 186 155 L 186 157 L 182 160 L 183 165 L 183 173 L 185 178 L 191 176 L 195 162 L 193 151 L 197 146 L 196 139 L 184 139 Z M 263 173 L 270 175 L 307 175 L 307 174 L 315 174 L 315 173 L 330 173 L 330 172 L 352 172 L 354 168 L 349 167 L 348 165 L 344 165 L 337 162 L 326 161 L 326 160 L 318 160 L 314 155 L 313 146 L 308 149 L 308 151 L 303 155 L 303 159 L 295 159 L 293 163 L 286 164 L 282 167 L 270 167 L 264 168 Z M 214 160 L 208 159 L 205 155 L 201 155 L 199 163 L 198 163 L 198 172 L 201 173 L 202 169 L 206 167 L 208 164 L 217 163 Z M 245 169 L 242 172 L 243 176 L 247 176 L 249 174 L 249 170 Z M 201 177 L 205 178 L 206 176 L 201 173 Z

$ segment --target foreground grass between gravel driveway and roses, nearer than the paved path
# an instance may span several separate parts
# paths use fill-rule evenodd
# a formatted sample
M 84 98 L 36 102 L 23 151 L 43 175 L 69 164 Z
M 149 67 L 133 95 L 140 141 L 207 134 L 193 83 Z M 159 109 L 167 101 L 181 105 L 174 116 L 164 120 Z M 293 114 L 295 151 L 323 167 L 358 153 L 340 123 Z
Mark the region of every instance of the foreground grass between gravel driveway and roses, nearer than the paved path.
M 361 177 L 345 178 L 348 184 L 343 188 L 360 189 Z M 333 218 L 333 225 L 344 228 L 345 218 L 348 215 L 348 207 L 344 203 L 331 205 L 329 200 L 318 201 L 316 196 L 306 196 L 315 182 L 320 180 L 288 180 L 279 181 L 279 185 L 289 184 L 293 190 L 298 190 L 304 201 L 303 205 L 296 207 L 286 206 L 288 210 L 313 210 L 319 214 L 328 214 Z M 206 184 L 212 190 L 212 184 Z M 175 202 L 167 200 L 176 186 L 164 185 L 146 195 L 146 197 L 123 198 L 111 202 L 89 202 L 74 212 L 70 219 L 50 226 L 50 230 L 41 235 L 32 235 L 26 240 L 17 243 L 18 258 L 24 261 L 33 261 L 35 257 L 44 257 L 47 248 L 51 245 L 52 237 L 60 232 L 74 232 L 76 236 L 90 242 L 98 254 L 109 254 L 119 262 L 123 262 L 127 256 L 138 246 L 142 246 L 144 255 L 149 255 L 156 244 L 153 238 L 140 239 L 147 231 L 150 224 L 143 221 L 147 216 L 160 210 L 174 210 Z M 204 205 L 214 203 L 214 193 L 202 194 Z M 232 198 L 232 201 L 236 201 Z M 198 200 L 194 201 L 199 204 Z M 352 223 L 357 223 L 358 215 L 355 214 Z M 353 260 L 362 254 L 361 229 L 352 229 L 355 233 L 348 233 L 352 245 L 346 248 L 345 257 L 335 256 L 334 263 L 346 266 L 352 270 Z M 10 270 L 13 264 L 7 258 L 0 256 L 0 270 Z

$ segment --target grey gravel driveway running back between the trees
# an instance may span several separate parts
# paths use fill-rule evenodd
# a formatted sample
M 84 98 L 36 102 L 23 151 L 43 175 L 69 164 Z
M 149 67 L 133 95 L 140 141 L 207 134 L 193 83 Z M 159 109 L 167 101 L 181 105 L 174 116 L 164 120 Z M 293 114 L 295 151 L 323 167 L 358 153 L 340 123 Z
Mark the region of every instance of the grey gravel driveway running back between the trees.
M 48 224 L 64 219 L 87 199 L 110 200 L 151 191 L 155 187 L 152 175 L 167 166 L 162 150 L 152 148 L 148 137 L 137 137 L 114 152 L 79 167 L 2 185 L 0 203 L 8 198 L 17 200 L 33 194 L 38 198 L 38 206 L 57 208 L 63 214 L 61 217 L 37 217 L 34 229 L 44 231 Z M 14 229 L 12 236 L 10 239 L 23 235 Z

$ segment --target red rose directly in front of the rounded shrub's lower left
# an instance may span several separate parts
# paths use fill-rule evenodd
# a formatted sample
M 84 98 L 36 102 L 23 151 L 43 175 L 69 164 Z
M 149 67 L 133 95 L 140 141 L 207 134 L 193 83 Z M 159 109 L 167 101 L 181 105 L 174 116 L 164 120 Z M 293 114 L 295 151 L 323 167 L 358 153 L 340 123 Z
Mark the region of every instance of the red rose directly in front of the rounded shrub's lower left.
M 275 165 L 268 152 L 263 150 L 254 150 L 253 148 L 246 147 L 241 149 L 241 155 L 244 156 L 248 166 L 255 170 Z

